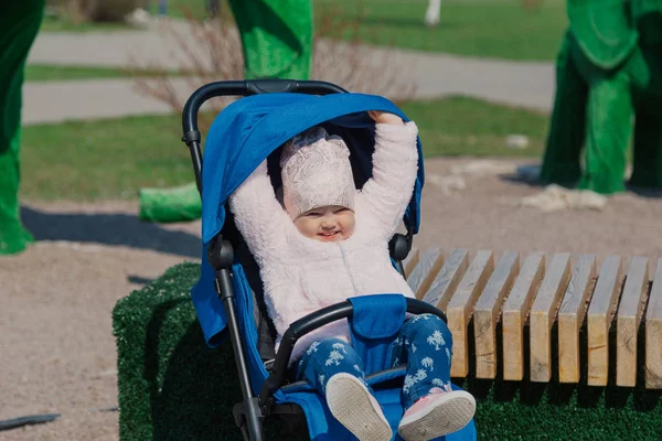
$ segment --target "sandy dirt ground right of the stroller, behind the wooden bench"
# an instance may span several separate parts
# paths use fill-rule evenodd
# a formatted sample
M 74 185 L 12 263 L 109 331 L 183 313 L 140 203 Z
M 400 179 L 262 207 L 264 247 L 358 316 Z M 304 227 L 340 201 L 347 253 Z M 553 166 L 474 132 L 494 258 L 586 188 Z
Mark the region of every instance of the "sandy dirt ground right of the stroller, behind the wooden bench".
M 445 175 L 458 163 L 467 160 L 428 161 L 426 173 Z M 435 184 L 426 184 L 419 244 L 445 249 L 662 256 L 660 197 L 627 193 L 612 197 L 601 212 L 543 213 L 516 206 L 522 197 L 540 193 L 538 186 L 508 175 L 466 176 L 466 190 L 446 197 Z

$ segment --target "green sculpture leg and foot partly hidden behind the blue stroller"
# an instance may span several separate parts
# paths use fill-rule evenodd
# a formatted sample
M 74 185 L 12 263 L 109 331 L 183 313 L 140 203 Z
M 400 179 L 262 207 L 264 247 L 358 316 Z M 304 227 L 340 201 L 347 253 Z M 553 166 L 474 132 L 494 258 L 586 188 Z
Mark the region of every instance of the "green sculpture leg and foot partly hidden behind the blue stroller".
M 242 37 L 246 79 L 310 77 L 310 0 L 229 0 L 229 7 Z M 175 189 L 142 189 L 139 204 L 143 220 L 194 220 L 202 214 L 195 183 Z

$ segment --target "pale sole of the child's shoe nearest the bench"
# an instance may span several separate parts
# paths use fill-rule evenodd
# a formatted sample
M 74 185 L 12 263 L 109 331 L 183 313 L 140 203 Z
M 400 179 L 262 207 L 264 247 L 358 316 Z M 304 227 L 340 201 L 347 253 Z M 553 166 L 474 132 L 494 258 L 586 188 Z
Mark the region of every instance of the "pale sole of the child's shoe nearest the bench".
M 428 441 L 457 432 L 471 421 L 476 413 L 476 400 L 462 391 L 439 400 L 427 413 L 398 428 L 405 441 Z

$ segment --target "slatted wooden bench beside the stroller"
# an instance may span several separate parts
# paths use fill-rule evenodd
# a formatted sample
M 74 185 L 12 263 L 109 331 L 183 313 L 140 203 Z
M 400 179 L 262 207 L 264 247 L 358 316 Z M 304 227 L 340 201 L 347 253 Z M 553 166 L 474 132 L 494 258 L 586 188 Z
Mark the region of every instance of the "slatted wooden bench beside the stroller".
M 496 260 L 439 248 L 413 249 L 404 262 L 416 297 L 448 316 L 455 378 L 501 372 L 505 380 L 633 387 L 644 366 L 645 388 L 662 389 L 662 258 L 624 265 L 618 256 L 598 268 L 591 255 L 509 251 Z

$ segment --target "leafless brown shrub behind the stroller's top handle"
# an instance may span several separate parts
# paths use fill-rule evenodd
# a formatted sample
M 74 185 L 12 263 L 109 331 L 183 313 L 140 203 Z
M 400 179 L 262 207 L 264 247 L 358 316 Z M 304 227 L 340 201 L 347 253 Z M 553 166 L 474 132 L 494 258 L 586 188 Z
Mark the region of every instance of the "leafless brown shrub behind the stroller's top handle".
M 361 10 L 355 19 L 350 19 L 338 7 L 331 8 L 318 14 L 314 23 L 311 78 L 334 83 L 351 92 L 385 95 L 396 101 L 409 99 L 414 86 L 407 82 L 407 66 L 398 63 L 397 52 L 362 43 Z M 195 20 L 190 11 L 184 11 L 184 14 L 185 25 L 171 21 L 160 26 L 163 40 L 171 42 L 168 64 L 173 66 L 174 72 L 163 69 L 163 63 L 146 64 L 138 58 L 131 63 L 134 68 L 156 72 L 161 68 L 161 74 L 154 78 L 136 77 L 137 90 L 168 104 L 178 112 L 199 87 L 244 77 L 242 43 L 234 23 L 223 17 L 202 22 Z M 183 89 L 184 80 L 188 95 L 178 92 Z M 174 86 L 175 83 L 179 87 Z M 217 115 L 229 101 L 227 98 L 214 99 L 206 109 L 212 110 L 211 115 Z M 206 130 L 211 123 L 209 115 L 201 112 L 199 123 L 201 129 Z

